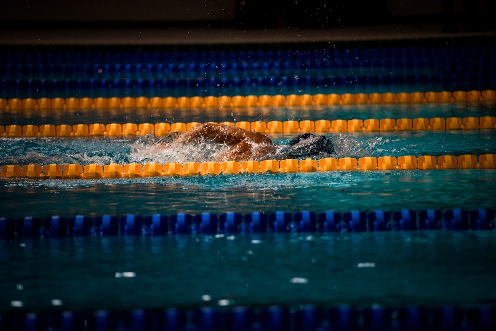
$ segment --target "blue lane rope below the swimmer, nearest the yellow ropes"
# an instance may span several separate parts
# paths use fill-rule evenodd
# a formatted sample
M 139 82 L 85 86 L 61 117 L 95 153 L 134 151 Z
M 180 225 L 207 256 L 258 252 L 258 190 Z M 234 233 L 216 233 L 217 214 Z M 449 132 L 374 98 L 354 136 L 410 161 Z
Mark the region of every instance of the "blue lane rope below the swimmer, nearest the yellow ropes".
M 494 230 L 496 211 L 492 209 L 426 209 L 362 212 L 302 211 L 288 213 L 233 212 L 198 215 L 178 213 L 149 216 L 103 215 L 87 217 L 52 216 L 0 218 L 0 239 L 41 237 L 142 236 L 167 234 L 235 234 L 266 232 L 365 232 L 395 230 Z

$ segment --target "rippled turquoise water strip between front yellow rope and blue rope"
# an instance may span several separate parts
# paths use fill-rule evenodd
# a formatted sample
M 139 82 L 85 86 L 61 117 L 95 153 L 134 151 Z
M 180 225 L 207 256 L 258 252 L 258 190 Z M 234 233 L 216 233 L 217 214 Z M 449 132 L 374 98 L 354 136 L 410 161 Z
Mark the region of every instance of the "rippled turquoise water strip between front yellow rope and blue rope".
M 116 180 L 2 180 L 4 217 L 404 208 L 494 209 L 492 170 L 367 171 Z M 63 207 L 62 207 L 63 206 Z

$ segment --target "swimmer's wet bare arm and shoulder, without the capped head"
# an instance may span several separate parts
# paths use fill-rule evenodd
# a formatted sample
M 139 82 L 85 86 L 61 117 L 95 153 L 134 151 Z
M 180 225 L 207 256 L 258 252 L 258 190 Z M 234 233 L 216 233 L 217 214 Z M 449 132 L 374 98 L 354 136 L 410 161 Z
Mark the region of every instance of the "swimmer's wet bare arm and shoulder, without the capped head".
M 261 159 L 274 152 L 272 140 L 264 134 L 218 123 L 203 123 L 183 133 L 175 142 L 191 143 L 211 140 L 232 146 L 219 161 Z

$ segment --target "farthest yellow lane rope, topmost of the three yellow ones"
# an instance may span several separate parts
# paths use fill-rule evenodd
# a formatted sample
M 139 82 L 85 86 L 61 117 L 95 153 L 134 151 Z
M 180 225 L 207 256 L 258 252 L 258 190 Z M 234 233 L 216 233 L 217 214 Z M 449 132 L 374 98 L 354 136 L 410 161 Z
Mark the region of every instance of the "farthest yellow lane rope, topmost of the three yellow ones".
M 354 104 L 423 104 L 423 103 L 494 103 L 495 90 L 441 91 L 400 93 L 344 93 L 290 95 L 236 95 L 193 97 L 110 97 L 110 98 L 11 98 L 0 99 L 1 111 L 33 109 L 171 109 L 171 108 L 230 108 L 230 107 L 293 107 Z

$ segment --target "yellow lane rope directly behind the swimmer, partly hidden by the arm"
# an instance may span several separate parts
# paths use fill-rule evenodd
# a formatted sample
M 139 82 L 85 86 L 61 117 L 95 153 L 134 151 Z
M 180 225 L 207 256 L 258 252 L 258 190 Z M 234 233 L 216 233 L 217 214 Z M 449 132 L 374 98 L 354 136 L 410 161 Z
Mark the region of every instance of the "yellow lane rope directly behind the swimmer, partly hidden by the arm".
M 186 132 L 199 122 L 175 123 L 93 123 L 93 124 L 43 124 L 43 125 L 0 125 L 0 136 L 8 138 L 33 137 L 88 137 L 88 136 L 139 136 L 154 135 L 163 137 L 170 132 Z M 238 121 L 221 122 L 245 130 L 260 133 L 318 133 L 318 132 L 357 132 L 357 131 L 408 131 L 408 130 L 478 130 L 496 129 L 495 116 L 399 118 L 399 119 L 351 119 L 351 120 L 288 120 L 288 121 Z

